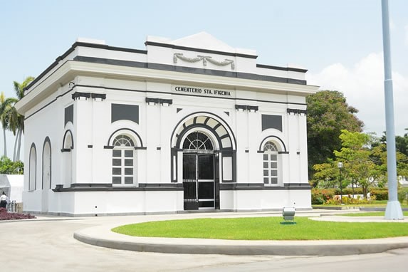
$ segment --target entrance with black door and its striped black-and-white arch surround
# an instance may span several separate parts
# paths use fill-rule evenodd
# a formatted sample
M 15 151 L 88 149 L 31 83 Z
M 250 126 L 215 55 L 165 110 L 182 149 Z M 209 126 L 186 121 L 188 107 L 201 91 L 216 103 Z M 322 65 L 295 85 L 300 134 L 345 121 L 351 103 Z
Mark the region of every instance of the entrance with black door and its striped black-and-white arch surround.
M 236 182 L 231 127 L 214 113 L 191 113 L 174 127 L 171 147 L 171 179 L 183 182 L 184 209 L 220 209 L 220 184 Z

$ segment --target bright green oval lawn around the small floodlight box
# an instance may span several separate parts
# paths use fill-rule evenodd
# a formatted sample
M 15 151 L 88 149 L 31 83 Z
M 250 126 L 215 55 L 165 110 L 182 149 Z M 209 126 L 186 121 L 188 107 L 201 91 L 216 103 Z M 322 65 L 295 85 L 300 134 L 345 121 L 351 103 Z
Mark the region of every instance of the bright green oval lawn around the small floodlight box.
M 281 217 L 188 219 L 154 221 L 112 229 L 130 236 L 230 240 L 338 240 L 408 236 L 408 224 L 313 221 L 296 217 L 297 224 L 280 224 Z

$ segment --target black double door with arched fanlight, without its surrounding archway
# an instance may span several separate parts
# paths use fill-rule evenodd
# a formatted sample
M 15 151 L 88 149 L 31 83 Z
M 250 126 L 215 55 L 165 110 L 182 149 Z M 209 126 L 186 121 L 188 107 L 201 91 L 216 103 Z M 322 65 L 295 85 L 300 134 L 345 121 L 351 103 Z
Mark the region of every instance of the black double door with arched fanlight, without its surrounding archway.
M 215 208 L 214 145 L 194 131 L 183 142 L 184 209 Z

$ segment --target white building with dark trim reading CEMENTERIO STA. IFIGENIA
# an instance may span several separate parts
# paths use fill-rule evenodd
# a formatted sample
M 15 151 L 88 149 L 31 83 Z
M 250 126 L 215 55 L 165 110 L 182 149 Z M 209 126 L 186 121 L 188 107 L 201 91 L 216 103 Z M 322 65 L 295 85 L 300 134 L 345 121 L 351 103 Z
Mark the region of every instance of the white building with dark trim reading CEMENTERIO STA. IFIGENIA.
M 311 208 L 306 70 L 207 33 L 145 46 L 78 40 L 28 86 L 24 211 Z

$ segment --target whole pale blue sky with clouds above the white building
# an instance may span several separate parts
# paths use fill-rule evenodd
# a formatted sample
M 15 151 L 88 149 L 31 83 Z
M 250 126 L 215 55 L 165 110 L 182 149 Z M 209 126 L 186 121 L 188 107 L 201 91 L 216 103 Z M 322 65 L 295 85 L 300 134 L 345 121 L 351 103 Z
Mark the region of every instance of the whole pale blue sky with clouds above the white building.
M 395 132 L 404 135 L 408 1 L 389 0 L 389 18 Z M 380 0 L 1 1 L 0 91 L 14 96 L 14 80 L 39 75 L 77 38 L 143 50 L 147 36 L 174 40 L 201 31 L 255 49 L 259 64 L 308 69 L 309 85 L 344 93 L 365 132 L 385 131 Z M 10 154 L 10 133 L 7 140 Z

